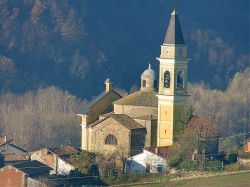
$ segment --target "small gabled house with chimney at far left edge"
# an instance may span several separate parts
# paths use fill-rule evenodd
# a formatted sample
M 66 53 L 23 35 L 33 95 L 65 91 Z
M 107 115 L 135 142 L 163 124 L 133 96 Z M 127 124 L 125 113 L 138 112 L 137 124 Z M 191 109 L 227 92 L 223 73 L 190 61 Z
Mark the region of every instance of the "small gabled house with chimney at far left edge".
M 5 166 L 29 160 L 28 152 L 12 141 L 13 139 L 8 140 L 6 136 L 0 138 L 0 153 L 4 156 Z

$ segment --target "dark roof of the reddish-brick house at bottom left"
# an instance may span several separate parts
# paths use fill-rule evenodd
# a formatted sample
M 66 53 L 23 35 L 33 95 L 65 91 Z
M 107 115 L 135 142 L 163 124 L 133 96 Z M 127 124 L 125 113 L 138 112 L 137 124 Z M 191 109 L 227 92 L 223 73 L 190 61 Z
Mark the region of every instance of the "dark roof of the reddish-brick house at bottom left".
M 49 173 L 49 171 L 52 170 L 52 168 L 50 168 L 49 166 L 37 160 L 21 162 L 21 163 L 12 165 L 12 167 L 26 173 L 27 175 L 31 177 L 37 176 L 39 174 Z

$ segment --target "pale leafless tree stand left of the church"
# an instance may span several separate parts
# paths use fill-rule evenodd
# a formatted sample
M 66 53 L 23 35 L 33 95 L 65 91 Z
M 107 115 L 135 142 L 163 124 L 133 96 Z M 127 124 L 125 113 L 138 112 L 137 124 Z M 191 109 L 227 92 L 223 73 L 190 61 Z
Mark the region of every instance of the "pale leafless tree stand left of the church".
M 80 121 L 75 114 L 85 104 L 55 87 L 23 95 L 4 94 L 0 96 L 0 134 L 27 149 L 79 146 Z

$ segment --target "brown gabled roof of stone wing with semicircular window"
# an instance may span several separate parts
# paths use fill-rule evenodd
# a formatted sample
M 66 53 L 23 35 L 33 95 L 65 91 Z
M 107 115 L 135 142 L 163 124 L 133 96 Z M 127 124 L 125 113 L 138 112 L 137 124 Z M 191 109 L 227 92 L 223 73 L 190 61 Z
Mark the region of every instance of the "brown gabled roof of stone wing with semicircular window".
M 94 123 L 89 124 L 88 127 L 94 127 L 94 126 L 98 125 L 99 123 L 101 123 L 109 118 L 116 120 L 118 123 L 120 123 L 121 125 L 123 125 L 124 127 L 126 127 L 129 130 L 145 128 L 143 125 L 136 122 L 134 119 L 127 116 L 126 114 L 113 114 L 113 113 L 110 113 L 102 120 L 97 120 Z

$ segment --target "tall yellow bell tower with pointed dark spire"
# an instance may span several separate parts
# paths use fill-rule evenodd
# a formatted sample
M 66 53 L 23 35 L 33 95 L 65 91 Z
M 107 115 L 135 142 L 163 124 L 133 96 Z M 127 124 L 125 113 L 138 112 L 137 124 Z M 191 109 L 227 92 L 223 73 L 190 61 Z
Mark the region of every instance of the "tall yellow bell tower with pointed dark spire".
M 187 109 L 187 47 L 174 10 L 167 30 L 159 67 L 157 147 L 173 145 L 174 129 Z

